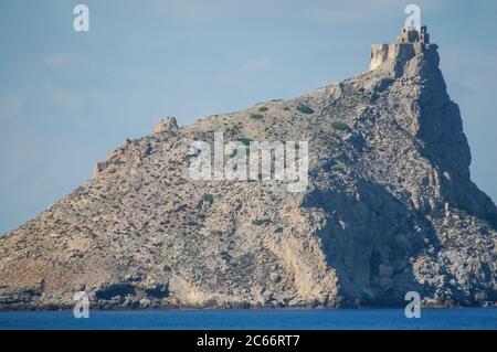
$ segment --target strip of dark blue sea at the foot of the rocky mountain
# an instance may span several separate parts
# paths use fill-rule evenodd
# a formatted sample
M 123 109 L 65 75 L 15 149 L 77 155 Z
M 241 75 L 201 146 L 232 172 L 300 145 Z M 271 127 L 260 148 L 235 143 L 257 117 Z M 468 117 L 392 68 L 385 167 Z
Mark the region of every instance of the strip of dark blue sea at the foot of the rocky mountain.
M 0 329 L 491 329 L 497 308 L 422 309 L 408 319 L 403 309 L 274 309 L 0 312 Z

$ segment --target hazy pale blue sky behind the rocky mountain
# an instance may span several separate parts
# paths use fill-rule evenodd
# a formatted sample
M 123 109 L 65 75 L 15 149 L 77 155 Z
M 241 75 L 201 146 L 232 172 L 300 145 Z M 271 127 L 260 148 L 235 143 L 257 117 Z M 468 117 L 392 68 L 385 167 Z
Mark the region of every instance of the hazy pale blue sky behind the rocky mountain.
M 91 177 L 162 116 L 197 118 L 300 95 L 368 67 L 421 7 L 497 200 L 497 1 L 0 0 L 0 233 Z M 89 8 L 89 32 L 73 8 Z

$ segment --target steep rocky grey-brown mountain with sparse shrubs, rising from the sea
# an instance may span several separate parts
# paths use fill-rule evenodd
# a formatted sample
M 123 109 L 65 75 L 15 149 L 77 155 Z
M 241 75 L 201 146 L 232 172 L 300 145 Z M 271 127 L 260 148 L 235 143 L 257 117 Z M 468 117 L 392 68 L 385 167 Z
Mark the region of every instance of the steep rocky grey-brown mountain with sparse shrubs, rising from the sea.
M 194 140 L 308 141 L 308 185 L 194 181 Z M 228 157 L 229 158 L 229 157 Z M 0 239 L 0 307 L 391 306 L 497 300 L 497 210 L 436 45 L 289 100 L 126 140 Z

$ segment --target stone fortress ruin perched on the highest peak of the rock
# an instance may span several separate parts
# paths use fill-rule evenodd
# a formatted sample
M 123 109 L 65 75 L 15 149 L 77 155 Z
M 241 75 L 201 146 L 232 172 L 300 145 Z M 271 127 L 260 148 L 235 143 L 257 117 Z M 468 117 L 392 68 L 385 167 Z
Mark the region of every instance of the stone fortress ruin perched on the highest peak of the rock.
M 425 52 L 430 46 L 430 34 L 426 32 L 426 25 L 416 29 L 403 28 L 395 43 L 373 44 L 371 45 L 371 61 L 369 70 L 374 70 L 387 61 L 396 57 L 409 60 L 419 53 Z

